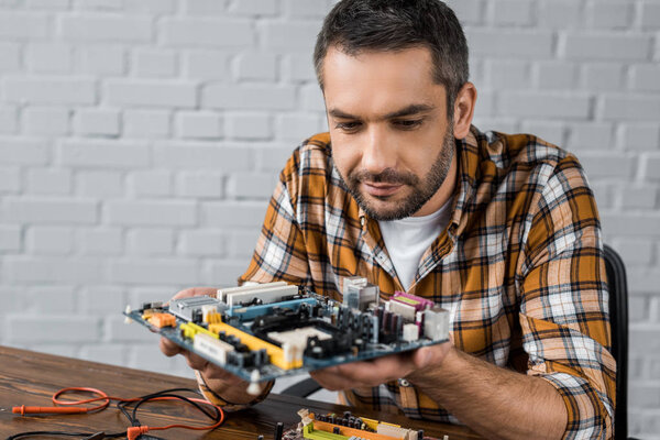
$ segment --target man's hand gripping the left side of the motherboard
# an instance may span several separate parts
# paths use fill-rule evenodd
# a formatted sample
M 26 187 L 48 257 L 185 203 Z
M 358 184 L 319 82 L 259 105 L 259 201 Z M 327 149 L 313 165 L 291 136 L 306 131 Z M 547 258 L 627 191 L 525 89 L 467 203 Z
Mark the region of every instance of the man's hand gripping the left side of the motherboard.
M 216 296 L 215 287 L 193 287 L 176 294 L 173 299 L 186 298 L 190 296 Z M 254 399 L 253 395 L 246 393 L 250 385 L 246 381 L 229 373 L 226 370 L 216 366 L 204 358 L 190 353 L 166 338 L 161 338 L 161 351 L 166 356 L 183 354 L 193 370 L 201 373 L 207 385 L 227 402 L 232 404 L 246 404 Z

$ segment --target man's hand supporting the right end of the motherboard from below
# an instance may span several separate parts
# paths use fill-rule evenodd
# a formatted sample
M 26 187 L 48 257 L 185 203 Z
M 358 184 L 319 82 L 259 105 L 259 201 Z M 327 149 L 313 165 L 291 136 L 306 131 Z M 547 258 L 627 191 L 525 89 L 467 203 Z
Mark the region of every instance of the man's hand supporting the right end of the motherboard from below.
M 330 391 L 378 386 L 411 374 L 419 381 L 425 372 L 442 364 L 451 346 L 451 342 L 444 342 L 370 361 L 329 366 L 311 372 L 310 376 Z

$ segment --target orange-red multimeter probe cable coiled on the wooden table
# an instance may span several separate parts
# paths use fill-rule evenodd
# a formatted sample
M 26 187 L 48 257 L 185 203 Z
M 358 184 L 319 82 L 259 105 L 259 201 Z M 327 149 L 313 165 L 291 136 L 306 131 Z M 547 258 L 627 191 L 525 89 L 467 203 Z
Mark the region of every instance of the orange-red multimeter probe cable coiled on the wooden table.
M 94 397 L 94 398 L 85 399 L 85 400 L 59 400 L 58 397 L 67 392 L 94 393 L 94 394 L 99 395 L 100 397 Z M 125 398 L 121 398 L 121 397 L 108 396 L 106 393 L 103 393 L 100 389 L 86 388 L 86 387 L 62 388 L 53 395 L 52 399 L 53 399 L 53 404 L 64 405 L 64 406 L 90 404 L 92 402 L 98 402 L 98 400 L 105 400 L 105 402 L 102 404 L 94 406 L 94 407 L 69 407 L 69 408 L 66 408 L 66 407 L 63 408 L 63 407 L 58 407 L 58 406 L 38 407 L 38 406 L 23 405 L 23 406 L 14 406 L 12 408 L 12 413 L 20 414 L 21 416 L 24 416 L 26 414 L 81 414 L 81 413 L 91 413 L 91 411 L 103 410 L 110 405 L 110 400 L 128 402 L 128 403 L 141 400 L 141 398 L 125 399 Z M 179 399 L 176 397 L 155 397 L 155 398 L 150 399 L 150 402 L 151 400 L 179 400 Z M 209 425 L 209 426 L 204 426 L 204 427 L 194 427 L 194 426 L 189 426 L 189 425 L 178 425 L 178 424 L 167 425 L 164 427 L 147 427 L 147 426 L 132 427 L 127 430 L 127 436 L 128 436 L 129 440 L 133 440 L 142 433 L 146 433 L 147 431 L 161 431 L 161 430 L 172 429 L 172 428 L 194 429 L 194 430 L 211 430 L 211 429 L 218 428 L 224 421 L 224 411 L 218 405 L 213 405 L 210 402 L 200 399 L 200 398 L 190 398 L 189 400 L 196 402 L 198 404 L 209 405 L 209 406 L 217 408 L 218 411 L 220 411 L 220 420 L 218 420 L 218 422 L 216 422 L 215 425 Z

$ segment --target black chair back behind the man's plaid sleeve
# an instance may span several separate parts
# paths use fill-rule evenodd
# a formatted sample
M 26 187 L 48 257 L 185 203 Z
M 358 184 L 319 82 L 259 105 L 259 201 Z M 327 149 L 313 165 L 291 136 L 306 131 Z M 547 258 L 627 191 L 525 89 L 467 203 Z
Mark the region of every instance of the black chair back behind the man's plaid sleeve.
M 616 360 L 616 408 L 614 438 L 628 437 L 628 282 L 626 267 L 614 249 L 604 245 L 605 270 L 609 287 L 612 355 Z

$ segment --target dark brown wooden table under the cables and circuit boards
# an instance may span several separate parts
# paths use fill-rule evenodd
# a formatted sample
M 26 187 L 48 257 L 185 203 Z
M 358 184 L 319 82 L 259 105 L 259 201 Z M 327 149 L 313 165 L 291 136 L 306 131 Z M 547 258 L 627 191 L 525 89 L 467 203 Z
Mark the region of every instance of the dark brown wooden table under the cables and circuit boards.
M 125 430 L 128 420 L 113 405 L 103 411 L 89 415 L 21 417 L 11 413 L 12 406 L 51 406 L 53 394 L 70 386 L 95 387 L 111 396 L 138 397 L 166 388 L 196 388 L 196 383 L 177 376 L 0 346 L 0 439 L 36 430 Z M 253 408 L 228 414 L 224 425 L 213 431 L 172 429 L 154 431 L 153 435 L 167 439 L 251 440 L 263 435 L 264 439 L 270 440 L 273 439 L 278 421 L 284 422 L 285 429 L 300 421 L 296 414 L 300 408 L 324 413 L 350 410 L 344 406 L 273 394 Z M 410 420 L 384 413 L 361 411 L 360 415 L 396 422 L 407 428 L 424 429 L 427 436 L 442 438 L 443 435 L 448 435 L 450 440 L 480 438 L 463 427 Z M 141 408 L 139 417 L 141 422 L 147 426 L 187 422 L 199 426 L 202 421 L 197 411 L 184 405 L 169 403 L 148 404 Z

